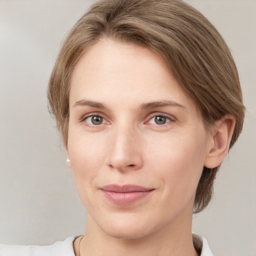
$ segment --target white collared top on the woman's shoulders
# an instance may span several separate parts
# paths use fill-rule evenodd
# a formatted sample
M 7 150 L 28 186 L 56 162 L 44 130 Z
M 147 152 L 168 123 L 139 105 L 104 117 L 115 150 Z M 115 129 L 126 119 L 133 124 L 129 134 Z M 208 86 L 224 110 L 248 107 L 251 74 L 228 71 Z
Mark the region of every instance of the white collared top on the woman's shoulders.
M 0 256 L 75 256 L 73 250 L 74 236 L 64 241 L 54 242 L 51 245 L 4 245 L 0 244 Z M 200 256 L 213 256 L 207 240 L 198 234 L 193 234 L 193 239 L 202 241 Z

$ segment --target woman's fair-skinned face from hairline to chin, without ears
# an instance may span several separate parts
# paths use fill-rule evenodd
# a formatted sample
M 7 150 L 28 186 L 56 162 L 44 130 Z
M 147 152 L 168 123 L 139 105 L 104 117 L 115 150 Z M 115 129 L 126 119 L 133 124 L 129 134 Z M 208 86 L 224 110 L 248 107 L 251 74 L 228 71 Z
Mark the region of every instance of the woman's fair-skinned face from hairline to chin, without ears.
M 119 238 L 190 223 L 210 145 L 162 58 L 101 40 L 80 58 L 70 86 L 66 152 L 87 221 Z

